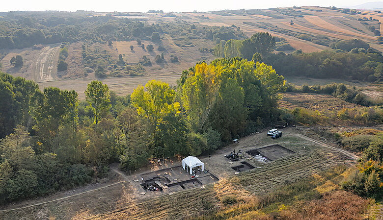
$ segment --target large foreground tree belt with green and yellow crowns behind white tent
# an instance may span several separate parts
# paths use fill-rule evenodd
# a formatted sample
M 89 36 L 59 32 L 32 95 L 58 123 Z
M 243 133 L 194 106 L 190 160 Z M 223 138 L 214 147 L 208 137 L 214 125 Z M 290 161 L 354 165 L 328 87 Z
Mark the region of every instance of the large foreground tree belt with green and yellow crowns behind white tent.
M 278 120 L 283 76 L 241 58 L 198 63 L 176 87 L 151 80 L 116 96 L 101 81 L 80 101 L 0 73 L 0 204 L 135 171 L 151 159 L 212 153 Z

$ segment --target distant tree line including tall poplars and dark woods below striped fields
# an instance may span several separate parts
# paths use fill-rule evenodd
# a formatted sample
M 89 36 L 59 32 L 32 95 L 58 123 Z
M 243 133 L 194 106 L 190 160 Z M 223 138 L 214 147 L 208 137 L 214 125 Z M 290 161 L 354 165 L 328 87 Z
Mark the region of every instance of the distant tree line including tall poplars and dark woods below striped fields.
M 312 78 L 342 78 L 367 82 L 383 80 L 383 56 L 361 40 L 339 41 L 334 50 L 303 53 L 271 53 L 275 37 L 269 33 L 256 33 L 246 40 L 220 41 L 214 53 L 217 57 L 240 56 L 247 60 L 265 62 L 284 76 Z M 257 54 L 256 57 L 252 57 Z M 254 59 L 255 58 L 255 59 Z

